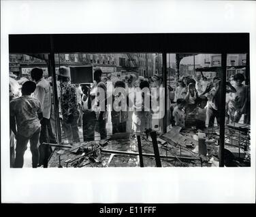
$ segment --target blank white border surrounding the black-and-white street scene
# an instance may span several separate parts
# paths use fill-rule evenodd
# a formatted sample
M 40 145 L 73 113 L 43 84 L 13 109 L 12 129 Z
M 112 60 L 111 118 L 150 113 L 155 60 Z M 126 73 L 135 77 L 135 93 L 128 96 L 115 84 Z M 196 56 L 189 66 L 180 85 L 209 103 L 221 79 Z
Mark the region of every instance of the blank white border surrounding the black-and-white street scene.
M 256 81 L 255 1 L 1 1 L 3 203 L 255 203 L 256 85 L 251 167 L 10 169 L 8 35 L 51 33 L 250 33 Z

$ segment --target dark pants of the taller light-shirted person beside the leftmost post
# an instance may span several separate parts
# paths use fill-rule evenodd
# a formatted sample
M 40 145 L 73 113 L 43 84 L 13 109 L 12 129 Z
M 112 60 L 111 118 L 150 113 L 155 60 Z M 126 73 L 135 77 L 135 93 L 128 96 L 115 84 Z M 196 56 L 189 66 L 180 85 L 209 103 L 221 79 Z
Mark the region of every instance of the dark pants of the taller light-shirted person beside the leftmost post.
M 39 146 L 39 165 L 48 166 L 48 158 L 52 153 L 52 148 L 48 145 L 42 144 L 43 142 L 49 143 L 48 127 L 50 125 L 50 119 L 43 117 L 41 120 L 41 134 L 40 134 L 40 146 Z

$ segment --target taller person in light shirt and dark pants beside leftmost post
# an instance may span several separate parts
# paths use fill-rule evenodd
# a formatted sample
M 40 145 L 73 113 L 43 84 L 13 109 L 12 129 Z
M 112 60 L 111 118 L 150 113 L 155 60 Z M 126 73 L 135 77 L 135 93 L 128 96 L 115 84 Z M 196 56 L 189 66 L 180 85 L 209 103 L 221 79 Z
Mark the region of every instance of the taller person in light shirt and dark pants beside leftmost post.
M 44 79 L 42 68 L 33 68 L 31 70 L 31 79 L 36 83 L 35 92 L 32 96 L 39 100 L 43 111 L 43 119 L 41 121 L 42 129 L 39 138 L 41 144 L 39 146 L 39 165 L 47 167 L 48 157 L 50 157 L 52 149 L 50 146 L 45 146 L 42 143 L 50 142 L 48 129 L 52 129 L 50 125 L 50 110 L 52 106 L 50 83 Z

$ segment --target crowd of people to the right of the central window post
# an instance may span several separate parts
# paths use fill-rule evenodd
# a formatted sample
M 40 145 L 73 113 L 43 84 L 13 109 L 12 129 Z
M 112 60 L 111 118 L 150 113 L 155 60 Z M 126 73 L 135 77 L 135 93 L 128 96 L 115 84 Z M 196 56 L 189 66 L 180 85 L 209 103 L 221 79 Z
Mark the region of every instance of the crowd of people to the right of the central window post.
M 231 84 L 232 83 L 232 84 Z M 183 77 L 178 80 L 175 90 L 174 106 L 171 106 L 173 125 L 180 127 L 197 127 L 204 130 L 220 123 L 221 79 L 212 81 L 203 73 L 195 78 Z M 249 86 L 244 84 L 244 75 L 238 73 L 226 81 L 225 123 L 238 123 L 242 115 L 249 113 Z M 207 123 L 206 123 L 207 121 Z

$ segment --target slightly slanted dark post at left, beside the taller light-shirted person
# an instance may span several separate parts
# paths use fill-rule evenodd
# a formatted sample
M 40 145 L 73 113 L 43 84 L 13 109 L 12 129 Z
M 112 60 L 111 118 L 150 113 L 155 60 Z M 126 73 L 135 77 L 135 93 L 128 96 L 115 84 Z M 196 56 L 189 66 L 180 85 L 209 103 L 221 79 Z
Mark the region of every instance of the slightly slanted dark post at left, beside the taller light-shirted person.
M 55 72 L 55 58 L 54 58 L 54 43 L 53 37 L 50 35 L 50 70 L 52 74 L 52 91 L 54 98 L 54 113 L 55 113 L 55 124 L 57 126 L 57 142 L 61 142 L 61 125 L 59 120 L 59 100 L 57 94 L 57 81 L 56 81 L 56 72 Z

